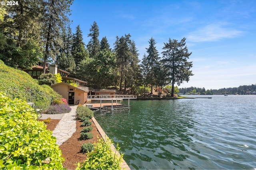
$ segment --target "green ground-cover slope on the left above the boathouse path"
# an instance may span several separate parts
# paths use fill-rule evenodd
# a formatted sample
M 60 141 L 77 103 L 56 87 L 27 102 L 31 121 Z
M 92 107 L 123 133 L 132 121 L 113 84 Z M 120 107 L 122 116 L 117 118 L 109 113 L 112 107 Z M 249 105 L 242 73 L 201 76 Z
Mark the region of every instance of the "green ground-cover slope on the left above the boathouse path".
M 36 106 L 49 106 L 52 100 L 61 98 L 50 86 L 40 86 L 26 72 L 6 66 L 1 60 L 0 92 L 6 93 L 12 99 L 34 102 Z

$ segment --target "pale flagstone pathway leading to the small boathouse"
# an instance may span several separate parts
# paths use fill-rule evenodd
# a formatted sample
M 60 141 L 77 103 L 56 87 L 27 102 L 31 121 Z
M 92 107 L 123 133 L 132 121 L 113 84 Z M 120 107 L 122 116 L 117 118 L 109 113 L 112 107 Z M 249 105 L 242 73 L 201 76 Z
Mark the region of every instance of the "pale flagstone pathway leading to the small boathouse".
M 72 137 L 73 133 L 76 132 L 76 107 L 70 106 L 70 113 L 64 113 L 60 119 L 58 125 L 52 132 L 52 136 L 56 137 L 56 144 L 62 145 L 66 140 Z

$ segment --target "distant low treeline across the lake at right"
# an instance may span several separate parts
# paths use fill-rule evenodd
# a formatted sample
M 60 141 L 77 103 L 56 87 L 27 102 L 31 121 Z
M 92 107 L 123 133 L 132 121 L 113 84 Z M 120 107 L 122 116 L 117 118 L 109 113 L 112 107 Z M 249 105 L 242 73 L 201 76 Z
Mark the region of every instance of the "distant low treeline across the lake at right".
M 243 85 L 234 88 L 220 88 L 219 90 L 205 88 L 189 87 L 179 88 L 180 94 L 255 94 L 256 84 Z

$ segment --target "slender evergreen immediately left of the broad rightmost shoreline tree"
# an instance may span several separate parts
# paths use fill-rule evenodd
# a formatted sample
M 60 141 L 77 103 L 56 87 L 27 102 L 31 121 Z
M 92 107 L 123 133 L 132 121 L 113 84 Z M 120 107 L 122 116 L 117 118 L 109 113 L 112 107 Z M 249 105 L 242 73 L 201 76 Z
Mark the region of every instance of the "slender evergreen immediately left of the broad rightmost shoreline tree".
M 158 57 L 158 51 L 156 49 L 156 41 L 153 37 L 148 41 L 149 47 L 147 49 L 148 56 L 146 58 L 149 66 L 149 80 L 151 85 L 151 94 L 153 94 L 153 86 L 156 84 L 156 64 L 159 61 L 160 57 Z

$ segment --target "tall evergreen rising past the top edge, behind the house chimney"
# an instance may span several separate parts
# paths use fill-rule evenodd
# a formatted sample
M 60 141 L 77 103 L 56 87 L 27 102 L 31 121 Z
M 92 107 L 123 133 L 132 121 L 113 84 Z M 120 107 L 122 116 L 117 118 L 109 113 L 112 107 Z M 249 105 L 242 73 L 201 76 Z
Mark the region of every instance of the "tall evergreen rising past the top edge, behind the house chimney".
M 66 27 L 70 20 L 70 5 L 73 0 L 45 0 L 44 26 L 42 39 L 44 40 L 44 67 L 46 71 L 46 62 L 58 55 L 59 47 L 62 47 L 61 29 Z

